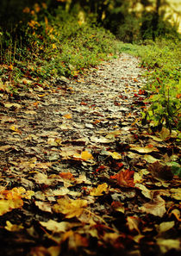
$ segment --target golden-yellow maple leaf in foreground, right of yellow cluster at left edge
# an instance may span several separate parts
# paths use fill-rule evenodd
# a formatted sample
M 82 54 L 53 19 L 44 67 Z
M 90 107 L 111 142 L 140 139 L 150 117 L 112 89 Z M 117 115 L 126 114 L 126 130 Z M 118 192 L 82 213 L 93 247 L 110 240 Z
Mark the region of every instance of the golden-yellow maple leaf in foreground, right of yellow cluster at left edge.
M 66 215 L 66 218 L 73 218 L 82 215 L 86 206 L 86 200 L 60 198 L 57 200 L 57 203 L 53 205 L 53 210 Z

